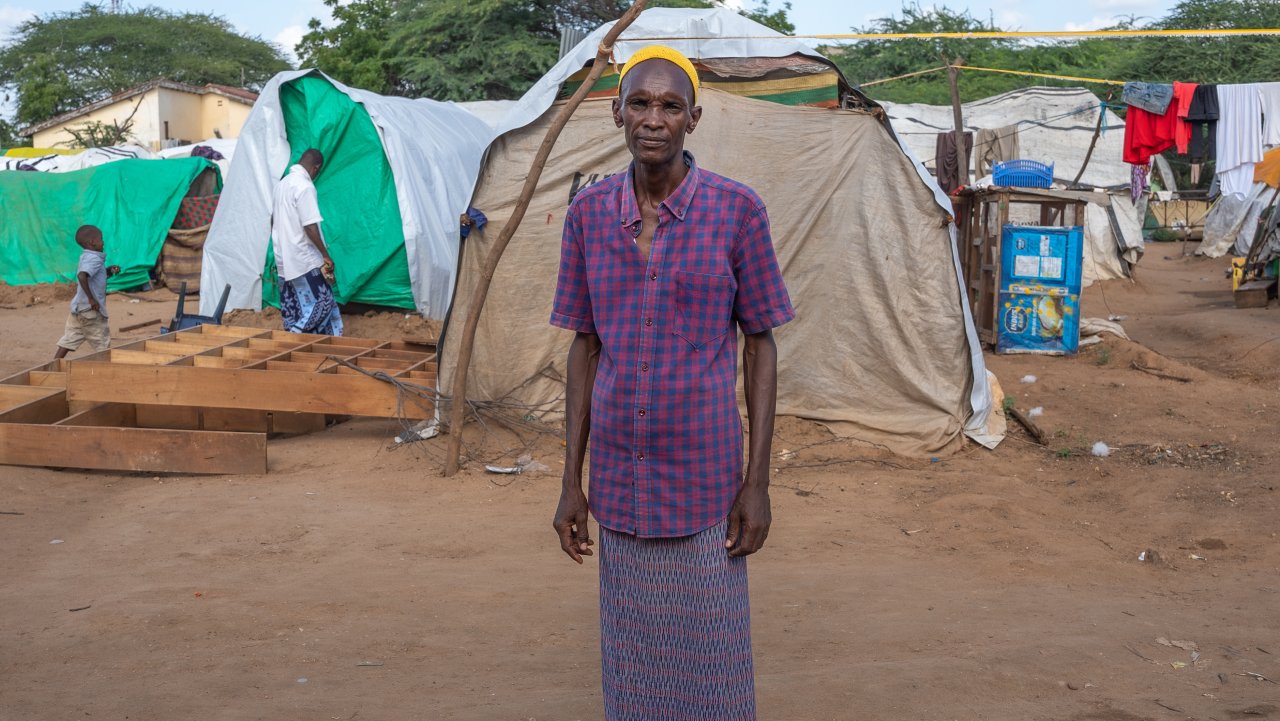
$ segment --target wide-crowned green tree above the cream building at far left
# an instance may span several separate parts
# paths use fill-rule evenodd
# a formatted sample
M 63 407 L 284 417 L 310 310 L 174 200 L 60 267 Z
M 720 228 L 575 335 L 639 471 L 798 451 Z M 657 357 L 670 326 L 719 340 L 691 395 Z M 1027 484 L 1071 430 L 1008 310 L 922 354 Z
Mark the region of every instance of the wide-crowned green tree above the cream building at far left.
M 279 47 L 223 18 L 159 8 L 49 13 L 19 24 L 0 49 L 0 87 L 17 95 L 19 126 L 156 78 L 261 87 L 288 68 Z

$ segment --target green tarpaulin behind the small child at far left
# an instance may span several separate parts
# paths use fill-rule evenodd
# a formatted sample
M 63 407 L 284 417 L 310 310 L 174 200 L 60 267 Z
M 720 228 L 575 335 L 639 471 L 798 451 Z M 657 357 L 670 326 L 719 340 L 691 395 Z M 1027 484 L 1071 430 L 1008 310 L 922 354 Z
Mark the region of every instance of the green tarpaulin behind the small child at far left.
M 102 231 L 106 263 L 120 266 L 108 288 L 146 283 L 178 205 L 206 168 L 218 172 L 204 158 L 115 160 L 72 173 L 0 172 L 0 280 L 74 282 L 76 229 L 88 224 Z

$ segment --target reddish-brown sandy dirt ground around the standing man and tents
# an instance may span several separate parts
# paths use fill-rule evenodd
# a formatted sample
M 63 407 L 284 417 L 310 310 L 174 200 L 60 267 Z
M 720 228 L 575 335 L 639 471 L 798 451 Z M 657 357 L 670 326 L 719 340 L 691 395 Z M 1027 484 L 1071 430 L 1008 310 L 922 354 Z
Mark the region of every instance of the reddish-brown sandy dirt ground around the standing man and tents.
M 1149 246 L 1084 297 L 1133 342 L 988 356 L 1047 448 L 868 456 L 782 419 L 760 718 L 1280 718 L 1280 310 L 1234 309 L 1226 266 Z M 65 298 L 0 304 L 0 373 L 42 362 Z M 596 570 L 549 525 L 559 441 L 472 437 L 553 470 L 445 479 L 442 441 L 397 430 L 274 439 L 266 476 L 0 466 L 0 718 L 600 718 Z

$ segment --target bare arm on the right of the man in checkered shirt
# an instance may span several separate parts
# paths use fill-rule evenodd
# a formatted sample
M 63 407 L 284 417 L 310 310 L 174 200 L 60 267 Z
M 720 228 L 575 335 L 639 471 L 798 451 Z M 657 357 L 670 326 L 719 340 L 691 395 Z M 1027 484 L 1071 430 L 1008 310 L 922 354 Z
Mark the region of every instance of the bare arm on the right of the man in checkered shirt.
M 742 385 L 750 446 L 746 479 L 728 515 L 724 547 L 730 556 L 749 556 L 764 546 L 773 514 L 769 508 L 769 450 L 778 402 L 778 346 L 773 330 L 746 336 L 742 346 Z

